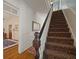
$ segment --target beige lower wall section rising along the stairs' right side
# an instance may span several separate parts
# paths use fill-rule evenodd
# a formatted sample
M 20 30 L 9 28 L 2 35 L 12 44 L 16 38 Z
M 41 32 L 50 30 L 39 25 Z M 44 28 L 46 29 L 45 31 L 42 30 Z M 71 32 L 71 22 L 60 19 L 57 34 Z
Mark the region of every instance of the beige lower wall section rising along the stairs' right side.
M 76 14 L 72 11 L 72 9 L 64 9 L 63 13 L 66 17 L 70 31 L 72 33 L 74 45 L 76 46 Z

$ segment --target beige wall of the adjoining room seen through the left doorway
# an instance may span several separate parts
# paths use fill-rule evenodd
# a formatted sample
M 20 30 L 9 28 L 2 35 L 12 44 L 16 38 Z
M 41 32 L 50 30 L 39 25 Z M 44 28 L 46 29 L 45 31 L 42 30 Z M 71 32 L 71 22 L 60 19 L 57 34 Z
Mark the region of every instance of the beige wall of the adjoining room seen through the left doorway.
M 5 29 L 5 32 L 7 33 L 7 37 L 9 35 L 9 25 L 12 25 L 12 39 L 18 40 L 18 31 L 14 31 L 15 25 L 19 25 L 19 18 L 18 16 L 9 14 L 9 13 L 4 13 L 4 21 L 3 21 L 3 27 Z

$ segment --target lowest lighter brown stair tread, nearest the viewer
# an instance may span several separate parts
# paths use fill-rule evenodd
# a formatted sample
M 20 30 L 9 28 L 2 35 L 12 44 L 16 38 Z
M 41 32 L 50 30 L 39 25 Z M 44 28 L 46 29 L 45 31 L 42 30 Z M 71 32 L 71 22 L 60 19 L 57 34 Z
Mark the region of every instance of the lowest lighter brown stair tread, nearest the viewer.
M 67 53 L 62 53 L 60 51 L 55 51 L 55 50 L 49 50 L 47 49 L 45 51 L 45 53 L 47 55 L 53 55 L 53 56 L 58 56 L 58 57 L 64 57 L 64 58 L 72 58 L 72 59 L 75 59 L 75 56 L 72 55 L 72 54 L 67 54 Z

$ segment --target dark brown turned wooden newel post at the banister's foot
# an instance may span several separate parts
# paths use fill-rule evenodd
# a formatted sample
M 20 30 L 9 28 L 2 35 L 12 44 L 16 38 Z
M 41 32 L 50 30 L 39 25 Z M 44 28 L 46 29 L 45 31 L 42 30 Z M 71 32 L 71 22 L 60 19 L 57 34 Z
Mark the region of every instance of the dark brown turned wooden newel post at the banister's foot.
M 34 40 L 33 40 L 33 47 L 35 48 L 36 50 L 36 56 L 35 56 L 35 59 L 39 59 L 39 47 L 40 47 L 40 39 L 39 39 L 39 33 L 38 32 L 35 32 L 34 33 Z

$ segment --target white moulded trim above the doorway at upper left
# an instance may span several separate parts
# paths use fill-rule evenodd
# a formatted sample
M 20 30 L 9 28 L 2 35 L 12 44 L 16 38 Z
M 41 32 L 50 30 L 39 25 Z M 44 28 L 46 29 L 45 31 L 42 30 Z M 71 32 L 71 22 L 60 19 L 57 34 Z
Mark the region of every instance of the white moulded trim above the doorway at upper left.
M 7 2 L 7 1 L 4 1 L 4 3 L 3 3 L 3 12 L 5 12 L 5 13 L 8 13 L 8 14 L 12 14 L 12 15 L 16 15 L 16 16 L 18 16 L 19 15 L 19 8 L 18 7 L 16 7 L 15 5 L 13 5 L 13 4 L 10 4 L 9 2 Z M 9 10 L 8 10 L 8 9 Z

